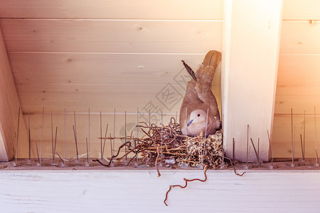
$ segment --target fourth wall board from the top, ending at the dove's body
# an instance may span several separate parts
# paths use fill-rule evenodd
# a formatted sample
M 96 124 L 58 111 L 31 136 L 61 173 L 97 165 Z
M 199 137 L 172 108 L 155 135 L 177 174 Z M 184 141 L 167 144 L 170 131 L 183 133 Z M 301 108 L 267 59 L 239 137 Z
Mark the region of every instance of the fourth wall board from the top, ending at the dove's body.
M 87 111 L 90 107 L 92 112 L 111 112 L 114 107 L 119 111 L 137 111 L 137 107 L 142 108 L 149 101 L 165 109 L 159 100 L 162 100 L 159 92 L 166 92 L 166 88 L 163 85 L 17 85 L 24 112 L 30 109 L 33 113 L 41 113 L 42 107 L 54 112 L 63 111 L 64 107 L 75 111 Z M 170 93 L 178 91 L 171 97 L 178 102 L 174 105 L 175 109 L 177 106 L 179 109 L 184 89 L 169 89 Z M 157 94 L 159 99 L 156 98 Z

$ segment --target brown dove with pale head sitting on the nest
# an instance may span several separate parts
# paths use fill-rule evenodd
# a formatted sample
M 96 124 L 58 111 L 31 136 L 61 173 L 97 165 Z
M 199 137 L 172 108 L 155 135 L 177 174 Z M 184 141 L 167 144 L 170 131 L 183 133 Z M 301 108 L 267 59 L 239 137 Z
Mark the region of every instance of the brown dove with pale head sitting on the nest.
M 197 72 L 183 65 L 189 72 L 192 80 L 188 82 L 186 95 L 180 108 L 180 126 L 183 135 L 198 136 L 205 132 L 207 136 L 220 129 L 221 121 L 217 101 L 211 91 L 215 69 L 221 60 L 221 53 L 209 51 Z M 208 121 L 207 121 L 208 111 Z M 206 128 L 207 126 L 207 128 Z

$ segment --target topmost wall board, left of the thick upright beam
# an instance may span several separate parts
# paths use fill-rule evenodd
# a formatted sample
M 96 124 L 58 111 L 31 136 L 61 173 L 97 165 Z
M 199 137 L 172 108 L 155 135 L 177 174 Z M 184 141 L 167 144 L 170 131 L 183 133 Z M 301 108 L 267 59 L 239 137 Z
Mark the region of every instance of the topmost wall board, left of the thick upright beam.
M 222 19 L 223 0 L 1 0 L 0 18 Z

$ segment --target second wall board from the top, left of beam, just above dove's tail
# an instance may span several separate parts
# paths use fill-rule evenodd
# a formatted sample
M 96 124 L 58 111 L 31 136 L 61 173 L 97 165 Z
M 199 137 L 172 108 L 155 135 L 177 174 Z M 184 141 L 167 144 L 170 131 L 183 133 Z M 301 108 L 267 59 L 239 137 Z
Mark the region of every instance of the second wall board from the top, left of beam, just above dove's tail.
M 63 53 L 207 53 L 221 21 L 1 19 L 7 50 Z

